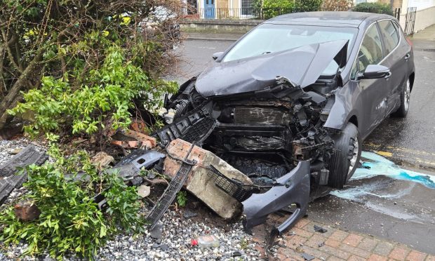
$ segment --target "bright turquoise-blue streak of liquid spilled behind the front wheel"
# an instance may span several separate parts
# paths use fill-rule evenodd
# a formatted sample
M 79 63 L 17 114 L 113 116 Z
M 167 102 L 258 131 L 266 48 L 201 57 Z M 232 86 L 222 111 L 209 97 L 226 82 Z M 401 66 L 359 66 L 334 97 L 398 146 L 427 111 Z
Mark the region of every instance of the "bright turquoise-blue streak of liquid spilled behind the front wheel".
M 356 169 L 352 180 L 370 178 L 375 175 L 384 175 L 396 180 L 417 182 L 431 189 L 435 189 L 435 176 L 418 173 L 413 170 L 404 170 L 379 154 L 363 152 L 361 154 L 361 160 L 363 161 L 362 168 Z

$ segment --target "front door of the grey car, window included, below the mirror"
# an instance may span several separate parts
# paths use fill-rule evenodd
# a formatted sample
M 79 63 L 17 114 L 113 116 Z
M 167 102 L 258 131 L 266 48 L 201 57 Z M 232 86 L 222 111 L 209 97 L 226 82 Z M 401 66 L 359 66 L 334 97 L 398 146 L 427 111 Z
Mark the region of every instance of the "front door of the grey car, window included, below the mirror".
M 352 69 L 352 78 L 359 86 L 363 112 L 360 112 L 363 123 L 359 126 L 361 135 L 365 137 L 373 131 L 387 113 L 387 95 L 389 93 L 388 79 L 359 79 L 368 65 L 379 65 L 384 58 L 382 39 L 373 22 L 363 36 L 358 58 Z

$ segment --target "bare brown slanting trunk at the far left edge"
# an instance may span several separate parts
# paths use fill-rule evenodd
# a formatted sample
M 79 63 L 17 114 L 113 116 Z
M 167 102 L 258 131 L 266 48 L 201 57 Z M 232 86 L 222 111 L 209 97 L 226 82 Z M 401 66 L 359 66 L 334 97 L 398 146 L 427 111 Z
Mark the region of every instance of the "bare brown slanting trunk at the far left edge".
M 4 128 L 6 124 L 6 119 L 8 118 L 8 113 L 6 111 L 15 107 L 20 99 L 20 91 L 27 86 L 29 76 L 34 74 L 34 71 L 39 68 L 39 62 L 41 62 L 42 53 L 42 50 L 36 52 L 32 62 L 29 62 L 29 65 L 22 72 L 18 80 L 13 83 L 13 86 L 9 90 L 8 94 L 0 102 L 0 129 Z

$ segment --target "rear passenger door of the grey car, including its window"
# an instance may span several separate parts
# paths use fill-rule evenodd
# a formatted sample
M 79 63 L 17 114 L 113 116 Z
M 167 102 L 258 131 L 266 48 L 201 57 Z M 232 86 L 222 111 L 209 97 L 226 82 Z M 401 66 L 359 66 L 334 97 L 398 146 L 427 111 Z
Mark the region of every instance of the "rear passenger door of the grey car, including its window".
M 384 114 L 385 117 L 394 112 L 399 105 L 401 87 L 407 77 L 406 62 L 408 56 L 407 51 L 399 46 L 399 41 L 401 41 L 400 34 L 397 32 L 397 28 L 394 27 L 393 22 L 387 19 L 380 20 L 377 23 L 384 44 L 384 60 L 382 65 L 389 67 L 391 72 L 391 76 L 388 79 L 389 83 L 385 86 L 389 88 L 389 93 L 386 97 L 387 112 Z M 403 41 L 405 40 L 403 39 Z

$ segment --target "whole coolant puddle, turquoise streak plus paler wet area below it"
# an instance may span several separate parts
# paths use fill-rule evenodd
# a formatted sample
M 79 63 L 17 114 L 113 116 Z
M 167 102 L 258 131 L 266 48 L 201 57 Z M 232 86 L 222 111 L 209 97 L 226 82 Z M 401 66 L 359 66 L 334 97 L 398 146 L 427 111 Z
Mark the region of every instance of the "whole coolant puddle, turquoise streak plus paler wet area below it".
M 361 163 L 348 185 L 330 194 L 401 220 L 434 220 L 433 202 L 427 208 L 422 203 L 435 194 L 435 176 L 400 168 L 373 152 L 363 152 Z

